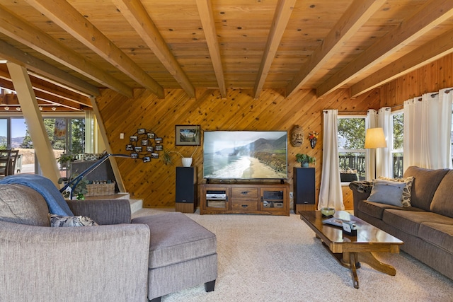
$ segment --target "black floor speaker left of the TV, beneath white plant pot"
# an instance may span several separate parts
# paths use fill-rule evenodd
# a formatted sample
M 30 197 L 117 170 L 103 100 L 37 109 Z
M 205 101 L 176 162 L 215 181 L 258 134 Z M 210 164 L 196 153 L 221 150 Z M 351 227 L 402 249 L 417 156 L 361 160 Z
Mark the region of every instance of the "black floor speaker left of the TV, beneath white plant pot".
M 196 204 L 197 175 L 195 167 L 176 167 L 176 203 Z

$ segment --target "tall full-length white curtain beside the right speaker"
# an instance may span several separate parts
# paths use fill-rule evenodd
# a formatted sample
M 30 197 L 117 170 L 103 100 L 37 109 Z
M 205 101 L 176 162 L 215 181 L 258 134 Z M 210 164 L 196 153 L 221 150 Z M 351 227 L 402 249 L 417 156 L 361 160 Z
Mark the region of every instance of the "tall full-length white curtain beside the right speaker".
M 338 110 L 323 110 L 323 169 L 318 209 L 332 207 L 344 210 L 338 161 Z

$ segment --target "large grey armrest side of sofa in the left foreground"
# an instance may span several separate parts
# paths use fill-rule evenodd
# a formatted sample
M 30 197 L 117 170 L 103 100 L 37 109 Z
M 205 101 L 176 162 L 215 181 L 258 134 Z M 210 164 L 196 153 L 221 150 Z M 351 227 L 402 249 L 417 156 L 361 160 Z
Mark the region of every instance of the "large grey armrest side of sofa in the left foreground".
M 145 301 L 144 224 L 51 228 L 0 221 L 0 301 Z

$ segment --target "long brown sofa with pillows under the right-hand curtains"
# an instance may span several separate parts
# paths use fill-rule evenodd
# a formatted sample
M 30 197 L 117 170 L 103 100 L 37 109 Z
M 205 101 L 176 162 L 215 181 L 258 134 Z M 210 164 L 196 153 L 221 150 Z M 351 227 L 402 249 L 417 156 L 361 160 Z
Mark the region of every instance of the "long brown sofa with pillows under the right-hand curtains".
M 453 279 L 453 170 L 412 166 L 403 178 L 410 176 L 411 207 L 369 202 L 372 182 L 351 182 L 354 214 L 403 240 L 401 250 Z

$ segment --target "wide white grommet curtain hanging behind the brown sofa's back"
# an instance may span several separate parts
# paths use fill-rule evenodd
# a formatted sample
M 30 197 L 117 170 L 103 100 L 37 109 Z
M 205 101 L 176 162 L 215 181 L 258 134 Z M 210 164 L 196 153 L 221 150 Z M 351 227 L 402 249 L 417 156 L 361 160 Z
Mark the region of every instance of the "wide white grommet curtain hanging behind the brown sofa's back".
M 452 168 L 452 92 L 447 91 L 404 102 L 404 170 Z

